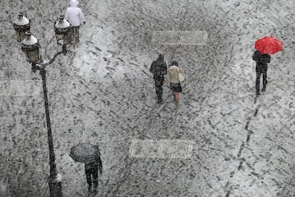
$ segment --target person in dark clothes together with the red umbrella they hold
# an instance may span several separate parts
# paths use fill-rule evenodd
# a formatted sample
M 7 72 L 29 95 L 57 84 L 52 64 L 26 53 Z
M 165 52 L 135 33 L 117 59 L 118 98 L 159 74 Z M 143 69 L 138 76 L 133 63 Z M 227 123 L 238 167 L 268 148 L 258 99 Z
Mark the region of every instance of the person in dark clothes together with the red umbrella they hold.
M 255 42 L 255 49 L 252 59 L 256 61 L 256 95 L 260 94 L 260 77 L 263 79 L 262 91 L 266 90 L 267 84 L 267 64 L 271 61 L 269 54 L 276 54 L 276 52 L 283 49 L 283 43 L 274 37 L 265 36 Z

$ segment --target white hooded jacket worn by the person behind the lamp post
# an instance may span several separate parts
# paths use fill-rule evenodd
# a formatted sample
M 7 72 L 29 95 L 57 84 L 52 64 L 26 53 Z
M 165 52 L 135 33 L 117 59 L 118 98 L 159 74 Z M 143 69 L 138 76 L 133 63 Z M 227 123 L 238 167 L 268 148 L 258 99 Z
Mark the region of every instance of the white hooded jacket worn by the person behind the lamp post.
M 71 0 L 71 7 L 66 9 L 65 19 L 71 24 L 71 26 L 80 26 L 85 21 L 83 12 L 79 9 L 78 1 Z

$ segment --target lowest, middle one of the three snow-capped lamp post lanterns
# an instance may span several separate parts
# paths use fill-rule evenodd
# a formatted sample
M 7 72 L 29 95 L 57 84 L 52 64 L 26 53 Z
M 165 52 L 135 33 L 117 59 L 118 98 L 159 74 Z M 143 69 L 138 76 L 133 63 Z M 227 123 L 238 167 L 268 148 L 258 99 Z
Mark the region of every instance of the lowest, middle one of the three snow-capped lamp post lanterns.
M 26 61 L 36 63 L 39 61 L 39 42 L 29 31 L 26 31 L 26 39 L 21 42 L 21 50 L 24 52 Z

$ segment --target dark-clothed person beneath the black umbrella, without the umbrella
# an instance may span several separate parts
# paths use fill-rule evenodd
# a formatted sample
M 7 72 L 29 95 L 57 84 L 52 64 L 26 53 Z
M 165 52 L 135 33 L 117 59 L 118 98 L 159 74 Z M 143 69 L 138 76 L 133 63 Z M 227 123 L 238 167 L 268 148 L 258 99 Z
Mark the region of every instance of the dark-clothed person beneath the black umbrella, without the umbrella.
M 85 164 L 85 173 L 86 173 L 86 180 L 88 183 L 88 191 L 93 191 L 94 193 L 97 193 L 97 188 L 98 188 L 98 170 L 100 174 L 103 173 L 103 163 L 101 162 L 100 156 L 98 156 L 96 161 Z M 92 190 L 92 185 L 93 185 L 93 190 Z

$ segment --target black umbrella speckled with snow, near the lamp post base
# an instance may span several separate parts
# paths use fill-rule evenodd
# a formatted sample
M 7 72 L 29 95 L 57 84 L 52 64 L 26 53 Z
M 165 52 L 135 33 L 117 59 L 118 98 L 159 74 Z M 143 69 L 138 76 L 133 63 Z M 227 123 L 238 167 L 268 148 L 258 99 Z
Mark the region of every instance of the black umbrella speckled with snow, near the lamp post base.
M 73 158 L 73 161 L 91 163 L 93 161 L 98 161 L 100 152 L 98 146 L 91 143 L 78 143 L 71 148 L 70 156 Z

